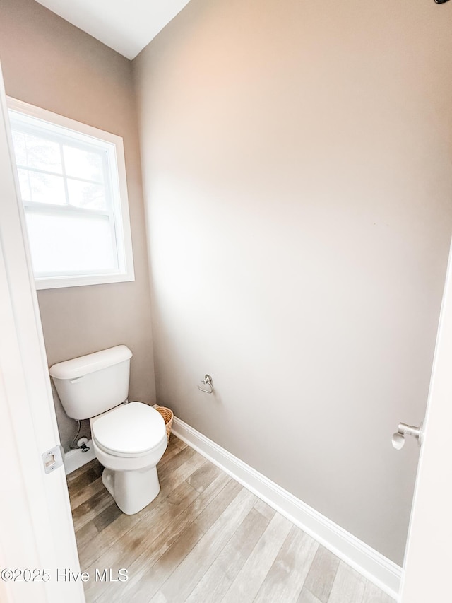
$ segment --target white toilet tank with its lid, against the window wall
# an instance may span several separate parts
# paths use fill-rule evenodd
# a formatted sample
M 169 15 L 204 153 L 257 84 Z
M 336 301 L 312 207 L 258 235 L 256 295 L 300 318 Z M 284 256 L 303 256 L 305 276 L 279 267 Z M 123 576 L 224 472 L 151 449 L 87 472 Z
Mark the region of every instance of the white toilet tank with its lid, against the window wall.
M 124 402 L 131 357 L 127 346 L 115 346 L 51 366 L 49 373 L 66 414 L 91 418 Z

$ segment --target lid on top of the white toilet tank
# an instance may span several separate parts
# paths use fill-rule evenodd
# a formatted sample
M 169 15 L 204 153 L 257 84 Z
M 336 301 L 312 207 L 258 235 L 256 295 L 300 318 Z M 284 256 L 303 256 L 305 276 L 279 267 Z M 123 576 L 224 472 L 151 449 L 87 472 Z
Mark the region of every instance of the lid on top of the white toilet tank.
M 54 364 L 49 368 L 49 373 L 56 379 L 76 379 L 129 360 L 132 356 L 133 354 L 127 346 L 114 346 L 114 348 Z

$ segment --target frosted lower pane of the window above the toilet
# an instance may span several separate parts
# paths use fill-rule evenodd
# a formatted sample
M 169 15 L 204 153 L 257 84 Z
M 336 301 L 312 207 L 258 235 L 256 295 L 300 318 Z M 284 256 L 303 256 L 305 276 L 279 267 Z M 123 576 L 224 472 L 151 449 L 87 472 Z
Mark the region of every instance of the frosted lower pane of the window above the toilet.
M 108 216 L 26 213 L 35 273 L 66 274 L 117 268 Z

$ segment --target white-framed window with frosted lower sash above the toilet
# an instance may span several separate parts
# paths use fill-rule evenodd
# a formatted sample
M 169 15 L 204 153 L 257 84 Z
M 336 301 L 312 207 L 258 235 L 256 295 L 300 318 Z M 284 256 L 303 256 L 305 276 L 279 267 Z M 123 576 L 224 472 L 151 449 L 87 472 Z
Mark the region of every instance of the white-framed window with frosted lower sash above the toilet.
M 9 98 L 38 289 L 133 281 L 120 136 Z

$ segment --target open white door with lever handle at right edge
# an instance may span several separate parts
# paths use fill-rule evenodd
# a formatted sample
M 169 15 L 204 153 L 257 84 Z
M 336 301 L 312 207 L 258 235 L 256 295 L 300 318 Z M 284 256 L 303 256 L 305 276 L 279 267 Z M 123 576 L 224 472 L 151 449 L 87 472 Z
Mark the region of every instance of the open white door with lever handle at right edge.
M 436 339 L 400 602 L 452 600 L 452 247 Z

